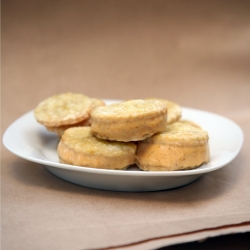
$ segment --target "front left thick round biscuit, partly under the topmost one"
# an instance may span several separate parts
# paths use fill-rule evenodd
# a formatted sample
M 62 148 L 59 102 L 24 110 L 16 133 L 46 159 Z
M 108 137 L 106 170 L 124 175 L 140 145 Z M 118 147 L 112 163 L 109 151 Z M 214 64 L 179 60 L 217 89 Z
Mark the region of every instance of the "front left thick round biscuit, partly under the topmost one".
M 90 127 L 67 129 L 57 148 L 61 163 L 103 169 L 126 169 L 134 164 L 135 151 L 136 145 L 132 142 L 96 138 Z

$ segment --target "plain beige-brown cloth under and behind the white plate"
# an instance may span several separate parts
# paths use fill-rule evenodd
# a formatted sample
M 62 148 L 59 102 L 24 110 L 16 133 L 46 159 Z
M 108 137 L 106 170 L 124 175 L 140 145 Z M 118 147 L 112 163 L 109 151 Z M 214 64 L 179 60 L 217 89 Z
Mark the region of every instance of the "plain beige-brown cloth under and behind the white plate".
M 226 167 L 146 193 L 68 183 L 2 145 L 2 249 L 155 249 L 250 231 L 249 13 L 243 0 L 2 1 L 2 135 L 71 91 L 169 99 L 245 136 Z

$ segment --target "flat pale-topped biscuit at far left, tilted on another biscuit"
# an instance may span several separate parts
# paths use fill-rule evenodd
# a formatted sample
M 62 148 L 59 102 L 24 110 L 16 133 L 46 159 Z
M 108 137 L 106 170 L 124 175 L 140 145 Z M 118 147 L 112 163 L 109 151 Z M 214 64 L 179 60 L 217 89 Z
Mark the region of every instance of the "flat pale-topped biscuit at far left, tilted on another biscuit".
M 63 93 L 40 102 L 34 116 L 47 127 L 75 124 L 89 118 L 91 104 L 91 98 L 85 95 Z

